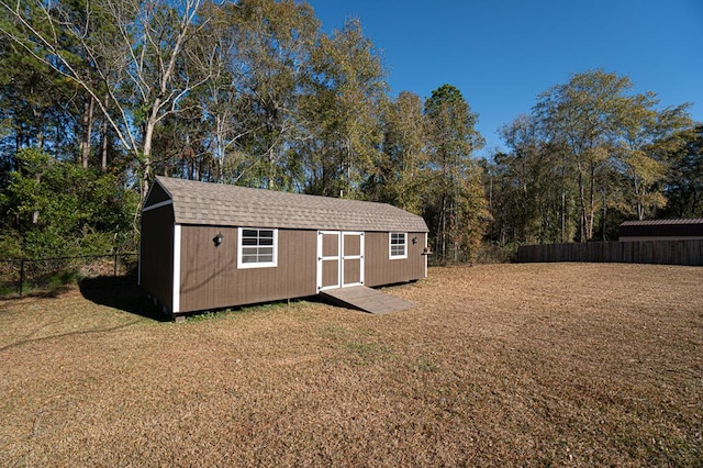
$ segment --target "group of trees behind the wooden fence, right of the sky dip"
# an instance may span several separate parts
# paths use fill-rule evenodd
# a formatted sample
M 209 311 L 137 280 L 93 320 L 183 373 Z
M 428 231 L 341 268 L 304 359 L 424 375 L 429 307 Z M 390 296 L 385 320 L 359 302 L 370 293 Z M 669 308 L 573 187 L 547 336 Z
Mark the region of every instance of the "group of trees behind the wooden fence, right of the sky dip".
M 573 74 L 500 130 L 483 163 L 489 237 L 501 244 L 614 241 L 626 220 L 703 216 L 703 126 L 628 77 Z

